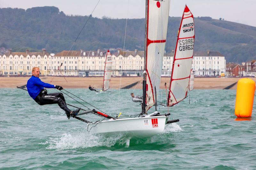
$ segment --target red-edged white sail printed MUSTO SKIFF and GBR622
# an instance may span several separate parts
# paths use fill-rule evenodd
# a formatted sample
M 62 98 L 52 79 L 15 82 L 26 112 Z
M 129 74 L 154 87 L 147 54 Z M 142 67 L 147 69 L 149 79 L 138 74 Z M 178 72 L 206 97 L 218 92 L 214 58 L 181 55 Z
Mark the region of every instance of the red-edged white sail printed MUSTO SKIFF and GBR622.
M 194 16 L 186 5 L 181 18 L 174 52 L 172 76 L 167 100 L 168 106 L 173 106 L 187 97 L 194 41 Z

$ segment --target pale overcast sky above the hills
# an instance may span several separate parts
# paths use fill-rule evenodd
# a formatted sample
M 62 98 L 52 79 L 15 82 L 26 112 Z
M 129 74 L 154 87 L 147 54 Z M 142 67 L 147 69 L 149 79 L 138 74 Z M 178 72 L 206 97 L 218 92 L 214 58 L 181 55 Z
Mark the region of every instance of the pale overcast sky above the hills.
M 56 6 L 68 15 L 89 15 L 98 0 L 0 0 L 0 8 L 28 9 L 36 6 Z M 214 19 L 256 26 L 256 0 L 171 0 L 170 16 L 180 17 L 185 4 L 194 17 L 209 16 Z M 92 14 L 101 18 L 144 18 L 145 0 L 100 0 Z

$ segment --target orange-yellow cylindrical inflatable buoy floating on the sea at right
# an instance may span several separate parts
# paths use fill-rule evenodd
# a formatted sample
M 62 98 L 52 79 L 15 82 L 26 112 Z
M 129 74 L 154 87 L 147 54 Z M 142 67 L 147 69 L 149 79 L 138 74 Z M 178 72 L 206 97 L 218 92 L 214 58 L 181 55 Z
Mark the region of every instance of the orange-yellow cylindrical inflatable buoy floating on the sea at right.
M 237 117 L 251 117 L 255 82 L 250 78 L 241 78 L 237 82 L 235 115 Z

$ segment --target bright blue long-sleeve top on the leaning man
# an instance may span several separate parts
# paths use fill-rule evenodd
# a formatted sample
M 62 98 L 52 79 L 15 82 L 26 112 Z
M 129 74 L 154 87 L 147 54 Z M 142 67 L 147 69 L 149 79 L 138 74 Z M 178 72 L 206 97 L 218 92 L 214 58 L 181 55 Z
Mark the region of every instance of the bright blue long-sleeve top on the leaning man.
M 27 82 L 27 88 L 28 88 L 28 94 L 30 97 L 32 97 L 34 100 L 36 99 L 36 96 L 45 88 L 55 88 L 54 85 L 44 83 L 40 80 L 40 78 L 37 78 L 35 76 L 32 76 L 28 79 Z

